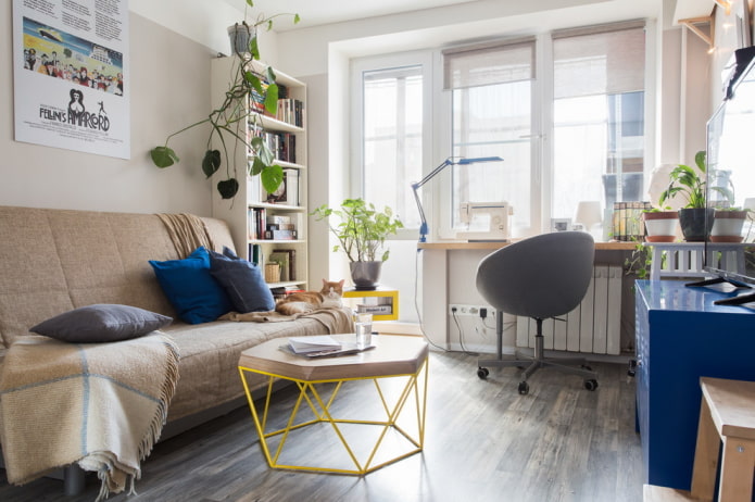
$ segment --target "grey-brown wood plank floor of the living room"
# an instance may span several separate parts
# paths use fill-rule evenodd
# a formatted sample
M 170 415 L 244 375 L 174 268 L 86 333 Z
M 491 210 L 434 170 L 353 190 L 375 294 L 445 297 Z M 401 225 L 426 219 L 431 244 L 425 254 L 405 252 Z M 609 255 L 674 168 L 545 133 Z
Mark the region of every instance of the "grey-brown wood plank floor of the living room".
M 142 465 L 138 495 L 111 501 L 640 501 L 640 438 L 634 432 L 634 382 L 625 365 L 593 364 L 600 387 L 543 369 L 530 393 L 517 393 L 517 371 L 477 377 L 476 357 L 431 352 L 425 450 L 364 477 L 269 469 L 251 415 L 237 410 L 159 443 Z M 360 385 L 339 402 L 361 405 Z M 276 405 L 293 402 L 291 388 Z M 315 450 L 316 434 L 301 447 Z M 62 481 L 9 486 L 0 470 L 0 500 L 92 502 L 86 492 L 63 498 Z

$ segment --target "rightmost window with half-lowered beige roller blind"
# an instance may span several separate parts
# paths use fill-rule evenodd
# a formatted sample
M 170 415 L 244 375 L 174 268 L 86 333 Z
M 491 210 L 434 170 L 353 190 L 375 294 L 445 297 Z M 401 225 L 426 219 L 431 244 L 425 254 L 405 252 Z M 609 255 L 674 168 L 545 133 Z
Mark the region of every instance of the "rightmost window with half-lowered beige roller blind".
M 643 199 L 644 54 L 643 24 L 553 34 L 554 217 Z

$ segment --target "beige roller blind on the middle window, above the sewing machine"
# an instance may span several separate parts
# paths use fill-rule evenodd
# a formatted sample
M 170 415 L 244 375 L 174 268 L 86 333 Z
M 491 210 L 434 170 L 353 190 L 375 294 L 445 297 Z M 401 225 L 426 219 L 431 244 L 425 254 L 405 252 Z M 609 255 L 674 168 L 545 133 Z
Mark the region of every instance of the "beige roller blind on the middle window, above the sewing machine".
M 443 88 L 489 86 L 534 78 L 534 38 L 443 50 Z

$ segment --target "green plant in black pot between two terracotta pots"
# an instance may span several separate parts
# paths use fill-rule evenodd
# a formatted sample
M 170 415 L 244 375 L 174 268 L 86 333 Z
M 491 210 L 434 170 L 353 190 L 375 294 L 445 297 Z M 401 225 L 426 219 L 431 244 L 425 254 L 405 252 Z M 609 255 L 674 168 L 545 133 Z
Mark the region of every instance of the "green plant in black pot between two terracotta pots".
M 705 151 L 695 154 L 695 168 L 679 164 L 669 174 L 668 188 L 660 194 L 659 205 L 681 194 L 687 204 L 679 210 L 679 224 L 684 240 L 701 242 L 713 226 L 713 209 L 705 206 Z

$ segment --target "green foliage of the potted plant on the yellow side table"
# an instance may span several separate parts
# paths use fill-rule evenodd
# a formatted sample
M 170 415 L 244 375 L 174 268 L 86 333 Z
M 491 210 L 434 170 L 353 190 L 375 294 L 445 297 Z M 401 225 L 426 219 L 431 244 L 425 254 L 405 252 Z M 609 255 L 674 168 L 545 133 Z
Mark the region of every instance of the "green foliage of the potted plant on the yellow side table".
M 362 199 L 345 199 L 341 202 L 340 209 L 323 204 L 310 214 L 317 221 L 328 222 L 330 231 L 339 242 L 334 247 L 334 252 L 342 250 L 350 262 L 385 262 L 389 256 L 388 249 L 377 256 L 386 238 L 404 227 L 390 208 L 377 211 L 375 204 L 366 203 Z M 330 223 L 330 216 L 334 215 L 340 218 L 340 223 L 335 226 Z

